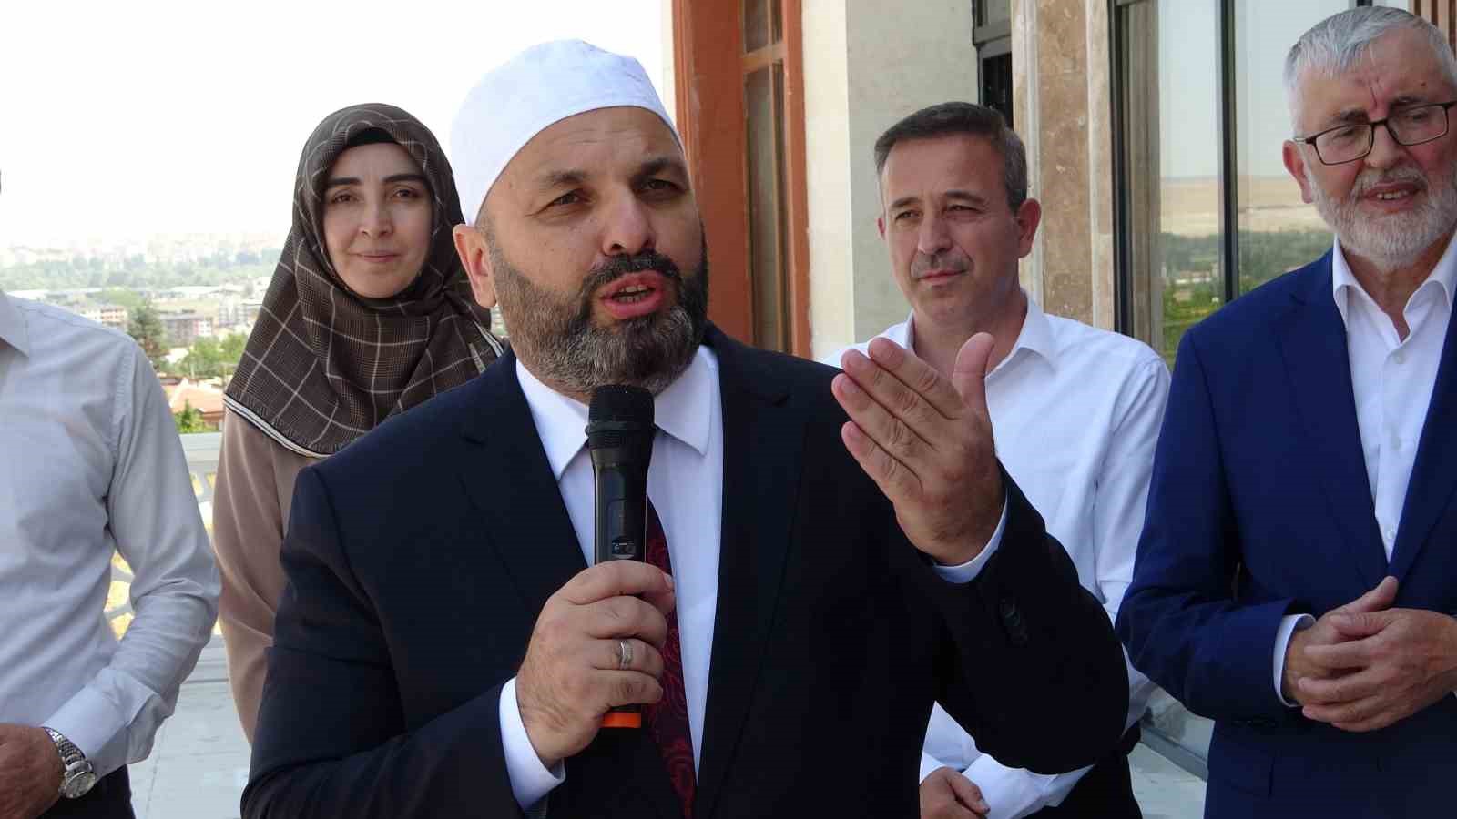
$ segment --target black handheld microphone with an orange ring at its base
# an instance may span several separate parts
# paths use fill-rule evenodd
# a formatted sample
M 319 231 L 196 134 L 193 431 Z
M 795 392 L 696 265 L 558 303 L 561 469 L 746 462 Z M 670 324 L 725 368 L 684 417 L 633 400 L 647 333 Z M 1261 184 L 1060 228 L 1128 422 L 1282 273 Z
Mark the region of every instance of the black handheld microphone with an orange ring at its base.
M 592 391 L 587 453 L 594 487 L 594 563 L 647 560 L 647 465 L 653 459 L 653 393 L 609 385 Z M 603 714 L 602 727 L 643 726 L 637 705 Z

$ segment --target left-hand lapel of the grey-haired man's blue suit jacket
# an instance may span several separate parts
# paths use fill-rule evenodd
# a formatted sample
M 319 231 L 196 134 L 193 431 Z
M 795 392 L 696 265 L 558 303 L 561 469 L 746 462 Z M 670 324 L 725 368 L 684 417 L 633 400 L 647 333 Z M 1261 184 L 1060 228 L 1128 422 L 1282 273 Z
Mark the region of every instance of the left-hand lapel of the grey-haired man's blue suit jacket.
M 1361 452 L 1346 328 L 1330 294 L 1330 255 L 1300 275 L 1307 281 L 1297 291 L 1289 322 L 1281 332 L 1285 372 L 1310 452 L 1316 455 L 1311 472 L 1345 535 L 1361 589 L 1371 589 L 1386 574 L 1386 549 L 1377 532 L 1371 482 Z

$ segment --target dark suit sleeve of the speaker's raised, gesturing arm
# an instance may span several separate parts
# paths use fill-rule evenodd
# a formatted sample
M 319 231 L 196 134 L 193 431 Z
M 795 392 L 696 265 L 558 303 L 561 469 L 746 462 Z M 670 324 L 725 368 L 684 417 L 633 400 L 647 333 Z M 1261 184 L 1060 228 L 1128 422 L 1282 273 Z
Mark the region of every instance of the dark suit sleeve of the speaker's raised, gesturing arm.
M 1119 742 L 1128 672 L 1072 560 L 1005 472 L 1002 481 L 1007 525 L 997 554 L 966 586 L 927 583 L 949 637 L 937 698 L 998 762 L 1059 774 Z

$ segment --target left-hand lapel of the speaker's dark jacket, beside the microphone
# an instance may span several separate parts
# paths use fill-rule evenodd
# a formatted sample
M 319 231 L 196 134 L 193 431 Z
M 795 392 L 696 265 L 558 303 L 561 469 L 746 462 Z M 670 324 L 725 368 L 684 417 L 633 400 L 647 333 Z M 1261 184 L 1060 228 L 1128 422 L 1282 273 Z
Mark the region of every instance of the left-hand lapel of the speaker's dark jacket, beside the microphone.
M 516 379 L 516 356 L 507 353 L 465 389 L 478 393 L 479 410 L 462 430 L 469 444 L 457 462 L 460 482 L 522 605 L 541 612 L 587 565 Z

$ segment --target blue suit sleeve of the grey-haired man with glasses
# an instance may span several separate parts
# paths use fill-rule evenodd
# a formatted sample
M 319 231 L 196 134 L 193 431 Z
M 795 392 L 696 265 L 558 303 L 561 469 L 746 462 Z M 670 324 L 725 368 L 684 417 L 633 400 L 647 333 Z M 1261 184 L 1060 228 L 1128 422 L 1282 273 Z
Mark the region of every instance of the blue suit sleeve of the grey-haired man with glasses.
M 1118 631 L 1134 667 L 1190 711 L 1278 718 L 1275 635 L 1292 600 L 1240 605 L 1241 560 L 1218 427 L 1195 334 L 1179 345 L 1148 513 Z

